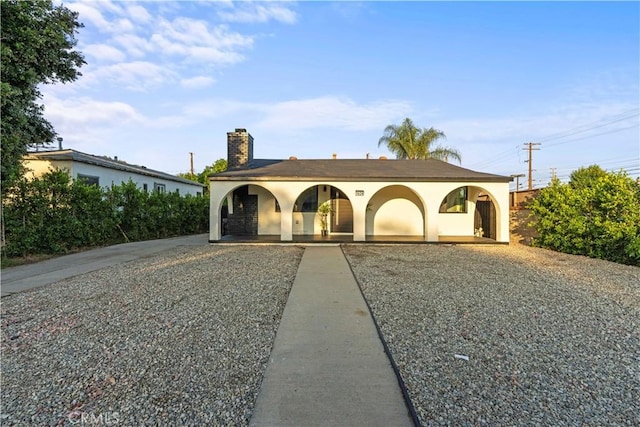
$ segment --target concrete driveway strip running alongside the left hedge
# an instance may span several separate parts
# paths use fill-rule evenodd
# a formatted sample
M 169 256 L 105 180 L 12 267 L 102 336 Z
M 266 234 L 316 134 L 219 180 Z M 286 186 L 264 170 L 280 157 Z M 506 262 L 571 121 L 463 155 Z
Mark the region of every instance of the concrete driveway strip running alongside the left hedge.
M 34 264 L 9 267 L 0 273 L 2 296 L 45 286 L 114 264 L 145 258 L 184 245 L 207 245 L 208 234 L 123 243 L 59 256 Z

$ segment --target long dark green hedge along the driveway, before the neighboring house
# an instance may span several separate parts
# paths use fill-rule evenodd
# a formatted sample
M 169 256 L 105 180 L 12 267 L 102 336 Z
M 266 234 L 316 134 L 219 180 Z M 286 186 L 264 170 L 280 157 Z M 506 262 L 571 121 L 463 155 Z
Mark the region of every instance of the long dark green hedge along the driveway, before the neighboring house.
M 132 181 L 104 190 L 66 171 L 20 178 L 2 200 L 4 255 L 27 256 L 204 233 L 209 199 L 152 193 Z

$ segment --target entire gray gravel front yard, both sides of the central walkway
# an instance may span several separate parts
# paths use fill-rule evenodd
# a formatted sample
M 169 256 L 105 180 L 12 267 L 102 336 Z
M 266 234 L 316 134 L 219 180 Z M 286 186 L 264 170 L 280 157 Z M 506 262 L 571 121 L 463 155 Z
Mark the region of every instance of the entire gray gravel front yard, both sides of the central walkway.
M 640 425 L 640 268 L 343 248 L 423 425 Z M 182 247 L 3 298 L 0 424 L 247 425 L 302 253 Z

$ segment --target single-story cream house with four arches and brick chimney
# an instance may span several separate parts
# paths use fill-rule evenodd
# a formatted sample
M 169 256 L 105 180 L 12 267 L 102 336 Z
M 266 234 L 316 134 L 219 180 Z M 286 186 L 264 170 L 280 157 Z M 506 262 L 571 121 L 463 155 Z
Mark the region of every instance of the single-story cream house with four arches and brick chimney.
M 245 129 L 227 133 L 227 149 L 229 169 L 209 177 L 212 242 L 319 236 L 327 200 L 329 232 L 347 240 L 509 242 L 511 177 L 433 159 L 254 159 Z

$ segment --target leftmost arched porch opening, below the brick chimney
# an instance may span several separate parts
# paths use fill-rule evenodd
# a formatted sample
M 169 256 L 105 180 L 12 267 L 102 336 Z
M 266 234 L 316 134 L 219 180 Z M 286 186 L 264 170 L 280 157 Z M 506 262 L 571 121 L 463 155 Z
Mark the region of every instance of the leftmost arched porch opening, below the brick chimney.
M 229 191 L 220 203 L 222 236 L 280 234 L 280 212 L 276 197 L 260 185 L 241 185 Z

